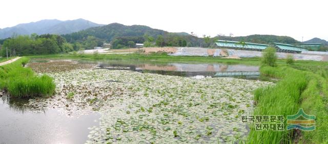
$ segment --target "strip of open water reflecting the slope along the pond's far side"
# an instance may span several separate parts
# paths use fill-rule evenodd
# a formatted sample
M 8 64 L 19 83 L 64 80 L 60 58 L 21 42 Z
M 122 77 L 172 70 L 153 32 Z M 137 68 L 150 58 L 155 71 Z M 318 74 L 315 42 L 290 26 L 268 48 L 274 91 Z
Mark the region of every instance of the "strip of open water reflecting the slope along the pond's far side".
M 177 76 L 204 77 L 258 77 L 259 67 L 248 65 L 227 64 L 185 64 L 185 63 L 156 63 L 155 61 L 106 61 L 79 60 L 79 63 L 95 64 L 101 69 L 132 70 L 138 72 L 157 73 Z

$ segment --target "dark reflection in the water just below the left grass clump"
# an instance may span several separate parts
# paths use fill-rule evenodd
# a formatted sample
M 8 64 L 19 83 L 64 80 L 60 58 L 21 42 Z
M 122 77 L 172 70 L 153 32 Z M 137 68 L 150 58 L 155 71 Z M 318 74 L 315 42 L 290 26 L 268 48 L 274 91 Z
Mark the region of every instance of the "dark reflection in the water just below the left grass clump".
M 1 97 L 1 100 L 9 106 L 9 109 L 14 112 L 20 112 L 25 113 L 29 111 L 34 111 L 37 113 L 45 113 L 45 110 L 42 108 L 36 108 L 32 106 L 28 106 L 26 104 L 29 103 L 29 99 L 27 98 L 11 98 L 9 94 L 4 94 L 4 96 Z

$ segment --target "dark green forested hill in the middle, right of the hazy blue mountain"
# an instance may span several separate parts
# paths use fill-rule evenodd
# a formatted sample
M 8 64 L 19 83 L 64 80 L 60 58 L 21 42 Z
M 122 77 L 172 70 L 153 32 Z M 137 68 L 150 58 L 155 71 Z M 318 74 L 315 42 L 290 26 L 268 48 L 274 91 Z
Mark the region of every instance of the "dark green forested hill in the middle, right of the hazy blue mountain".
M 111 42 L 116 37 L 128 37 L 128 36 L 144 36 L 148 34 L 149 36 L 157 37 L 157 35 L 163 35 L 168 33 L 163 30 L 153 29 L 148 26 L 132 25 L 125 26 L 118 23 L 109 24 L 101 27 L 89 28 L 79 32 L 74 32 L 71 34 L 65 34 L 65 37 L 69 42 L 75 42 L 76 40 L 84 40 L 88 36 L 94 36 L 96 38 L 107 40 Z

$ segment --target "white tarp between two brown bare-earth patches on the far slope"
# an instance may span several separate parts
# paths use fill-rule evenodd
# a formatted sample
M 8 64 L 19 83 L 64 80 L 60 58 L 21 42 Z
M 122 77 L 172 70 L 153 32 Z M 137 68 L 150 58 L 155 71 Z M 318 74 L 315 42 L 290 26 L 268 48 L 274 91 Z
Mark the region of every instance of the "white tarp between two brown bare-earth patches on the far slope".
M 176 48 L 175 53 L 169 54 L 174 56 L 209 56 L 205 48 Z

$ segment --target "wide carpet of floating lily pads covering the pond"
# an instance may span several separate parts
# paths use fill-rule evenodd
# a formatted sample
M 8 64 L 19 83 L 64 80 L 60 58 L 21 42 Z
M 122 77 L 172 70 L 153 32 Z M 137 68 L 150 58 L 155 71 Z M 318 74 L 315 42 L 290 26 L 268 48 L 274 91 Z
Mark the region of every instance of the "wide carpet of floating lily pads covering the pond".
M 273 85 L 229 77 L 195 79 L 127 70 L 75 69 L 48 74 L 57 85 L 57 94 L 47 99 L 48 107 L 63 108 L 67 114 L 100 113 L 99 126 L 89 128 L 86 143 L 243 140 L 249 130 L 240 116 L 252 114 L 253 91 Z M 67 99 L 70 92 L 74 97 Z

